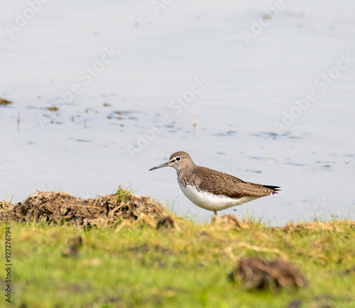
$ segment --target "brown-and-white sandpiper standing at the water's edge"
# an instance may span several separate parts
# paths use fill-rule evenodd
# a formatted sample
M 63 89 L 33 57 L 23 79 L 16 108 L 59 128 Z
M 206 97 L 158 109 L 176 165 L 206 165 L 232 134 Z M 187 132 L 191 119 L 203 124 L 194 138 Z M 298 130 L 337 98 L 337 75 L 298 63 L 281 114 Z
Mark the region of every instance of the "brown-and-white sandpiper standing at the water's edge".
M 217 211 L 229 209 L 236 205 L 277 194 L 278 186 L 254 184 L 244 182 L 237 177 L 224 172 L 195 165 L 186 152 L 176 152 L 170 155 L 168 162 L 151 168 L 173 167 L 178 172 L 178 182 L 182 192 L 190 201 L 207 209 Z

